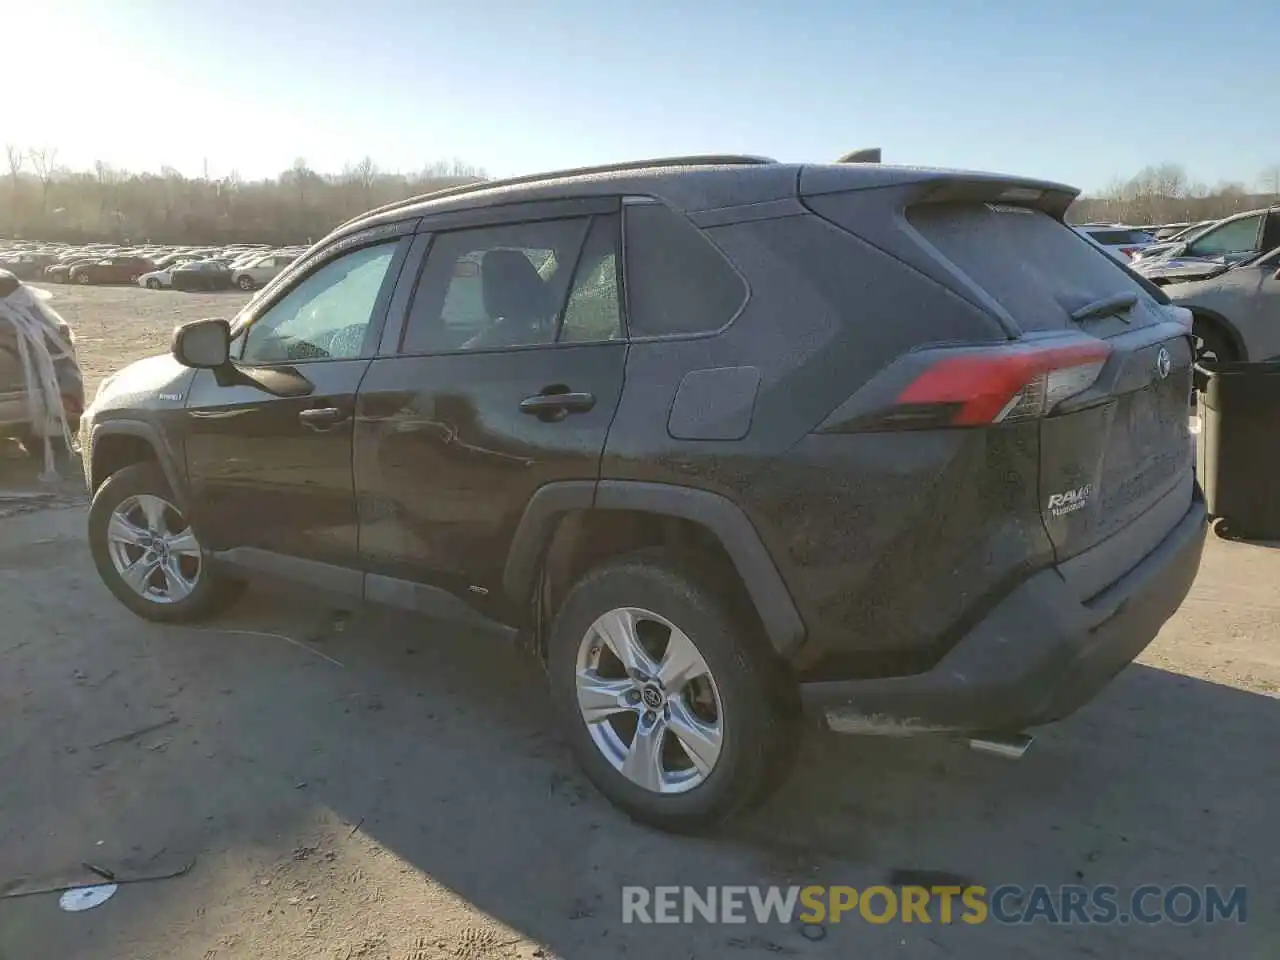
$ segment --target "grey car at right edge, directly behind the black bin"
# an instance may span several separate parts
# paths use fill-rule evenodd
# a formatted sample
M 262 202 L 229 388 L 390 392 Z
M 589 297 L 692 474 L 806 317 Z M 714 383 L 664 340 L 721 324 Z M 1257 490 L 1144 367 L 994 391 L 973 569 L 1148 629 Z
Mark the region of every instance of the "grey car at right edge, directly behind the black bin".
M 1165 293 L 1192 311 L 1198 362 L 1280 360 L 1280 250 Z

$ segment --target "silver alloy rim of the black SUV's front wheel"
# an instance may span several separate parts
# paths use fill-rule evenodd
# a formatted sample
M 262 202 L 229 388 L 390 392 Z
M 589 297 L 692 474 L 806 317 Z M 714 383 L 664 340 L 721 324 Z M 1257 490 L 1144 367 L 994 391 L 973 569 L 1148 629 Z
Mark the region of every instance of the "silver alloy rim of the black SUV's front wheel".
M 178 603 L 200 582 L 200 544 L 182 512 L 163 497 L 122 500 L 108 521 L 106 544 L 120 580 L 145 600 Z

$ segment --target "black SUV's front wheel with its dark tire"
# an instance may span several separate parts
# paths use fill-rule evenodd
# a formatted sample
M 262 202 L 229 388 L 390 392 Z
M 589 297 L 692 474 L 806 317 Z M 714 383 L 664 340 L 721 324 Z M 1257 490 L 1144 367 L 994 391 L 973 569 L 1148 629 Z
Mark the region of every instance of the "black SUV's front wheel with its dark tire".
M 152 522 L 147 513 L 156 502 L 166 507 L 160 524 Z M 186 520 L 173 503 L 169 483 L 157 463 L 134 463 L 124 467 L 108 477 L 93 494 L 93 503 L 88 511 L 88 545 L 99 576 L 120 603 L 145 620 L 184 623 L 204 620 L 225 609 L 243 585 L 210 570 L 195 536 L 180 540 L 170 538 L 173 544 L 180 543 L 184 549 L 179 550 L 177 547 L 170 549 L 165 545 L 168 562 L 152 564 L 146 562 L 148 554 L 146 547 L 136 543 L 122 547 L 120 541 L 108 532 L 109 529 L 118 529 L 113 527 L 113 517 L 125 520 L 132 532 L 154 532 L 157 526 L 169 534 L 182 532 L 183 529 L 189 532 Z M 122 513 L 128 516 L 120 517 Z M 146 526 L 150 526 L 151 531 L 147 531 Z M 136 558 L 134 564 L 146 563 L 152 571 L 142 581 L 141 588 L 131 586 L 118 567 L 118 561 L 129 558 Z M 170 573 L 170 570 L 175 572 Z M 182 586 L 175 586 L 173 576 L 182 581 Z M 168 599 L 160 596 L 161 585 Z

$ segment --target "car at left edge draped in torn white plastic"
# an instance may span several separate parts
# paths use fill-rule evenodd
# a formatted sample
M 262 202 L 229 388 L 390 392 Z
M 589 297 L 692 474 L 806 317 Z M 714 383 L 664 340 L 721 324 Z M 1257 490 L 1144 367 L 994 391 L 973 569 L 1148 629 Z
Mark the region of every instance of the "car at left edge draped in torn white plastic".
M 79 429 L 81 413 L 84 410 L 84 379 L 76 361 L 70 326 L 49 306 L 47 296 L 22 283 L 13 274 L 0 270 L 0 300 L 35 316 L 49 334 L 70 348 L 70 355 L 64 355 L 52 339 L 46 338 L 50 353 L 54 355 L 54 374 L 58 379 L 63 413 L 67 416 L 67 425 L 76 431 Z M 29 417 L 27 378 L 18 349 L 18 333 L 12 324 L 0 320 L 0 436 L 22 442 L 27 452 L 36 456 L 44 449 L 44 438 L 55 435 L 55 425 L 51 420 L 32 424 Z

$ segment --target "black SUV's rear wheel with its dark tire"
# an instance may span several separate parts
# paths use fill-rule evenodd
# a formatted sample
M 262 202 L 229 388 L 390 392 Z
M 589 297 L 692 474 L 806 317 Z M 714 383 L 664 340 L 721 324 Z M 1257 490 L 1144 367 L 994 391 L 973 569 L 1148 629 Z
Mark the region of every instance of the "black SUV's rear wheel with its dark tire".
M 741 609 L 740 588 L 727 577 L 709 576 L 708 566 L 700 554 L 667 548 L 614 558 L 573 586 L 548 644 L 552 698 L 588 778 L 631 818 L 672 832 L 703 829 L 762 801 L 782 781 L 799 733 L 797 691 L 790 672 L 759 628 L 735 616 Z M 680 691 L 658 681 L 667 666 L 659 666 L 658 676 L 641 672 L 645 682 L 627 677 L 613 654 L 617 641 L 603 640 L 598 632 L 602 622 L 623 622 L 620 616 L 640 625 L 632 636 L 649 646 L 649 666 L 671 664 L 675 648 L 669 645 L 678 631 L 687 639 L 680 648 L 685 662 L 690 660 L 687 643 L 705 675 L 695 675 Z M 667 660 L 659 657 L 663 645 Z M 598 690 L 612 698 L 600 710 L 602 716 L 608 710 L 608 718 L 588 723 L 582 677 L 595 685 L 589 698 Z M 648 776 L 648 786 L 625 772 L 646 723 L 658 731 L 645 740 L 658 745 L 650 751 L 657 767 L 636 763 L 632 773 Z M 708 733 L 698 741 L 690 730 Z M 714 739 L 710 732 L 718 733 L 714 754 L 705 746 Z M 701 764 L 682 746 L 690 741 L 699 744 Z

